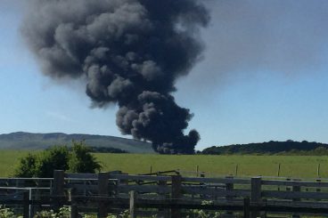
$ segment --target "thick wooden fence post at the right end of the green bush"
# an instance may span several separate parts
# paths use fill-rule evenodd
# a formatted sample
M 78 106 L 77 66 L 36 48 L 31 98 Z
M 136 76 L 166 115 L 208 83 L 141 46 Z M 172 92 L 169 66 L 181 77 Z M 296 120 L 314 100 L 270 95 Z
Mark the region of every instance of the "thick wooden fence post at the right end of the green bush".
M 109 174 L 108 173 L 99 173 L 98 174 L 98 194 L 100 197 L 108 197 L 108 183 L 109 183 Z M 104 218 L 107 217 L 107 200 L 100 199 L 98 203 L 98 217 Z

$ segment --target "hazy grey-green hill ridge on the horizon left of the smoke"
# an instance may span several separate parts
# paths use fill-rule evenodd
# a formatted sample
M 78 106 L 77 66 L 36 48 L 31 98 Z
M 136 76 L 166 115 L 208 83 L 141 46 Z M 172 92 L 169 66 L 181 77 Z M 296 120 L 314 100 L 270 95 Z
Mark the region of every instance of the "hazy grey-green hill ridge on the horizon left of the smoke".
M 125 150 L 129 153 L 154 153 L 152 144 L 114 136 L 65 133 L 9 133 L 0 134 L 0 149 L 46 149 L 53 145 L 68 145 L 71 141 L 86 141 L 93 147 Z

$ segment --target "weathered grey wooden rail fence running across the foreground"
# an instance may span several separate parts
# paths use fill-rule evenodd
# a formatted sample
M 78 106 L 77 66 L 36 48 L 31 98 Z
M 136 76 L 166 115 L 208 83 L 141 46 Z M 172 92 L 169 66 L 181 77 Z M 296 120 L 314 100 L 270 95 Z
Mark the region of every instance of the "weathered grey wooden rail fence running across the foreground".
M 0 179 L 0 204 L 21 208 L 24 218 L 61 206 L 70 206 L 73 218 L 87 212 L 105 217 L 126 209 L 131 217 L 185 217 L 191 209 L 220 211 L 222 217 L 328 216 L 328 182 L 54 171 L 53 178 Z

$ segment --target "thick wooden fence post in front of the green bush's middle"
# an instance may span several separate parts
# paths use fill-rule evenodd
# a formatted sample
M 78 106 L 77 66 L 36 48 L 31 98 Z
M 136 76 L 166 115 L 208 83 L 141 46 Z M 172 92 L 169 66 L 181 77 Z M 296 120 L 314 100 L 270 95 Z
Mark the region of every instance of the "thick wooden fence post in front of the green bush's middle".
M 63 170 L 53 171 L 53 206 L 54 211 L 59 210 L 65 198 L 65 172 Z

